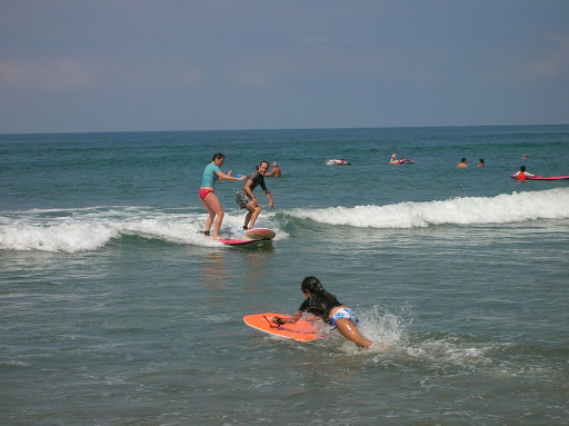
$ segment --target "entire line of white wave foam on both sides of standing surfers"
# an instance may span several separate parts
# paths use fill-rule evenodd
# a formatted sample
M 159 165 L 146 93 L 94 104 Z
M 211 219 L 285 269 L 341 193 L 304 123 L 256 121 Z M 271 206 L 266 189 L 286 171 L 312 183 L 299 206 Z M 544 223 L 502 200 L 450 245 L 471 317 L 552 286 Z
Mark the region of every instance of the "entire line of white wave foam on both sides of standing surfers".
M 509 224 L 569 218 L 569 188 L 515 192 L 497 197 L 465 197 L 443 201 L 387 206 L 291 209 L 284 215 L 327 225 L 358 228 L 419 228 L 437 225 Z M 74 210 L 28 210 L 0 217 L 0 249 L 77 252 L 97 250 L 113 239 L 136 236 L 171 244 L 218 247 L 204 238 L 207 214 L 162 211 L 151 207 L 93 207 Z M 267 222 L 267 218 L 271 220 Z M 279 229 L 274 214 L 258 225 Z M 242 215 L 226 215 L 222 232 L 239 238 Z

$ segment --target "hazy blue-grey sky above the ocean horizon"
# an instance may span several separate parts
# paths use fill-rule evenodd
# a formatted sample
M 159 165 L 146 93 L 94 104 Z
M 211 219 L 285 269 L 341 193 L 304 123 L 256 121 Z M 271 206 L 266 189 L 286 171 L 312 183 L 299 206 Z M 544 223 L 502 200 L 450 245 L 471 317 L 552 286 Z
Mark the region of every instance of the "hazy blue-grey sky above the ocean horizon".
M 568 0 L 0 0 L 0 133 L 567 123 Z

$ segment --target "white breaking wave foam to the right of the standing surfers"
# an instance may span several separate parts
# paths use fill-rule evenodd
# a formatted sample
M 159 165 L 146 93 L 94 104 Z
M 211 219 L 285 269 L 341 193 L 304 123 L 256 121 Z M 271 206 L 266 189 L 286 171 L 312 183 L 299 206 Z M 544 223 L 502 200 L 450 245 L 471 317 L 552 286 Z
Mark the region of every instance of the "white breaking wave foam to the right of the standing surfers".
M 569 188 L 513 192 L 497 197 L 463 197 L 443 201 L 387 206 L 292 209 L 288 215 L 327 225 L 357 228 L 419 228 L 432 225 L 510 224 L 569 218 Z

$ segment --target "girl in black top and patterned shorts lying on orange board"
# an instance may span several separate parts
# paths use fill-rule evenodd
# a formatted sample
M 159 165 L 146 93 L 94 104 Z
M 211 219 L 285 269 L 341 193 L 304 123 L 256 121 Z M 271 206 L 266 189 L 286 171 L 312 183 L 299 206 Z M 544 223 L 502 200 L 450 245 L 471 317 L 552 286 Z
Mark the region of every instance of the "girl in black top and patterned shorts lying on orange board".
M 298 321 L 303 313 L 313 314 L 325 321 L 329 323 L 332 327 L 338 328 L 338 331 L 348 340 L 353 341 L 361 348 L 370 348 L 373 341 L 363 337 L 356 327 L 359 323 L 358 317 L 346 305 L 342 305 L 335 295 L 325 290 L 322 284 L 316 277 L 306 277 L 300 285 L 306 300 L 298 308 L 298 313 L 291 317 L 274 317 L 272 321 L 277 325 L 290 324 Z M 387 349 L 388 346 L 382 346 Z

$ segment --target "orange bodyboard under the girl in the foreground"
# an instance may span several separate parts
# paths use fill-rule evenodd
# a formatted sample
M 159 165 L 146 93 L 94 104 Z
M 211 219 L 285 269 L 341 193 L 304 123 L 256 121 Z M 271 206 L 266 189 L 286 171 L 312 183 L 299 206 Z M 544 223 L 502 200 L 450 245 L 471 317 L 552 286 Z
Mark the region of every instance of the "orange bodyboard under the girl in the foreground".
M 283 324 L 281 326 L 272 323 L 274 317 L 286 318 L 290 317 L 290 315 L 273 313 L 253 314 L 246 315 L 243 321 L 249 327 L 257 328 L 258 330 L 298 341 L 310 341 L 325 337 L 325 334 L 318 327 L 320 320 L 316 317 L 300 318 L 293 324 Z

